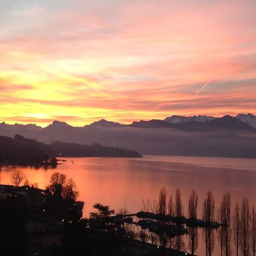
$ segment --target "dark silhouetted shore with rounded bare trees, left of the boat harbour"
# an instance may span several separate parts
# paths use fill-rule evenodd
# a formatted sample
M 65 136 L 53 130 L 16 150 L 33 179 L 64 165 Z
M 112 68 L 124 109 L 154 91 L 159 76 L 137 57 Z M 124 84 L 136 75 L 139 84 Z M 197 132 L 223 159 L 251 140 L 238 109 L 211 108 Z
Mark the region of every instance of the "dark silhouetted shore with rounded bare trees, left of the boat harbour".
M 76 201 L 76 184 L 64 174 L 53 174 L 46 189 L 27 180 L 19 186 L 24 180 L 16 171 L 11 176 L 15 186 L 0 186 L 1 255 L 125 256 L 144 251 L 123 212 L 114 215 L 108 205 L 97 203 L 89 219 L 81 218 L 83 202 Z M 156 249 L 153 245 L 146 251 L 158 255 Z

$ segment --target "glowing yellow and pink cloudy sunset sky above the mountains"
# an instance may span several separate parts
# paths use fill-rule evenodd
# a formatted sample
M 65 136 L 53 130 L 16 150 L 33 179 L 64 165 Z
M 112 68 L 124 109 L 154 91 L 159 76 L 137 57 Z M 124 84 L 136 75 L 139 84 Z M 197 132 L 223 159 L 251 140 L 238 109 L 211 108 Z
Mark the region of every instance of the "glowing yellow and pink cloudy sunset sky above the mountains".
M 256 1 L 2 0 L 0 122 L 256 114 Z

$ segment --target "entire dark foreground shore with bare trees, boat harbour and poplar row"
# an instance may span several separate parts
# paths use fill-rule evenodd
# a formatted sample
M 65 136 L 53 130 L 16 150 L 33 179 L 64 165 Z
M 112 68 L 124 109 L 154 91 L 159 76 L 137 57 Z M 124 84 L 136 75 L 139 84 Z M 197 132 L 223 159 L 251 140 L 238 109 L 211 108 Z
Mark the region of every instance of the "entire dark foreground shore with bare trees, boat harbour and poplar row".
M 199 245 L 207 256 L 214 249 L 225 256 L 256 252 L 255 209 L 244 198 L 232 212 L 229 193 L 216 208 L 208 191 L 201 218 L 195 190 L 189 196 L 186 217 L 180 189 L 173 199 L 162 188 L 159 200 L 151 205 L 143 202 L 138 213 L 126 209 L 115 213 L 108 205 L 96 203 L 84 219 L 84 203 L 76 201 L 76 184 L 64 174 L 54 173 L 46 189 L 30 184 L 20 171 L 13 172 L 11 182 L 14 186 L 0 186 L 1 255 L 179 256 L 196 255 Z

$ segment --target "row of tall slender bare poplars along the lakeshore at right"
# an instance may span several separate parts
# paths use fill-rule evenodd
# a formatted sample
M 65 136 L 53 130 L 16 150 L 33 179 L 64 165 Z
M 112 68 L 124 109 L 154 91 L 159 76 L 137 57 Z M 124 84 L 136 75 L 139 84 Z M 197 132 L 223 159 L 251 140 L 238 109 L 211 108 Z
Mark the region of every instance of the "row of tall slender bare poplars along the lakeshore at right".
M 197 219 L 197 205 L 199 197 L 195 190 L 191 192 L 188 200 L 188 218 L 191 221 Z M 172 196 L 167 202 L 167 192 L 165 188 L 161 188 L 159 193 L 158 203 L 159 214 L 170 214 L 171 216 L 184 216 L 184 209 L 181 201 L 180 189 L 176 189 L 175 200 Z M 236 246 L 236 255 L 249 256 L 252 253 L 255 256 L 256 252 L 256 213 L 253 207 L 250 210 L 249 201 L 244 198 L 239 204 L 236 203 L 233 214 L 231 213 L 231 199 L 230 194 L 225 193 L 222 197 L 220 208 L 215 207 L 215 200 L 211 191 L 207 192 L 207 196 L 203 201 L 203 221 L 212 224 L 217 217 L 220 227 L 217 229 L 217 238 L 220 243 L 221 256 L 232 255 L 231 241 L 233 233 L 233 241 Z M 188 249 L 194 255 L 198 246 L 198 228 L 196 225 L 189 225 L 189 241 Z M 205 242 L 205 255 L 210 256 L 214 250 L 214 233 L 215 229 L 212 225 L 207 225 L 203 228 L 203 238 Z M 160 245 L 165 246 L 167 239 L 164 234 L 159 235 Z M 169 238 L 169 247 L 177 251 L 182 251 L 185 248 L 181 236 Z

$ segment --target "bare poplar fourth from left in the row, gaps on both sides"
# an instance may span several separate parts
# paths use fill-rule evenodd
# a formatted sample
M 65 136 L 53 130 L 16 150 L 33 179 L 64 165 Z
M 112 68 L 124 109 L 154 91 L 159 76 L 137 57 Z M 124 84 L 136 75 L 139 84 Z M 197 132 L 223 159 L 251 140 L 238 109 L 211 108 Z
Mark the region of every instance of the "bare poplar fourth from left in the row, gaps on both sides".
M 188 217 L 191 220 L 195 221 L 197 218 L 197 202 L 198 202 L 198 195 L 195 190 L 191 192 L 188 200 Z M 188 247 L 191 250 L 191 254 L 194 255 L 198 245 L 198 233 L 197 228 L 192 225 L 189 228 L 189 242 Z

